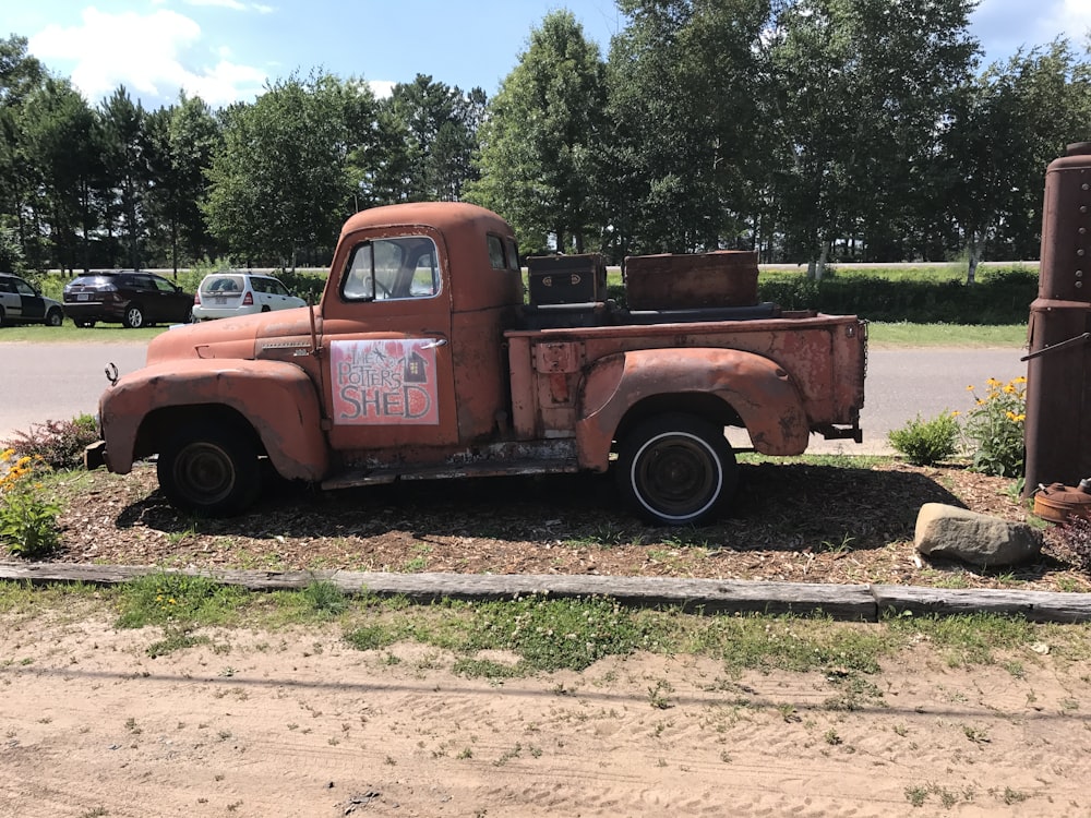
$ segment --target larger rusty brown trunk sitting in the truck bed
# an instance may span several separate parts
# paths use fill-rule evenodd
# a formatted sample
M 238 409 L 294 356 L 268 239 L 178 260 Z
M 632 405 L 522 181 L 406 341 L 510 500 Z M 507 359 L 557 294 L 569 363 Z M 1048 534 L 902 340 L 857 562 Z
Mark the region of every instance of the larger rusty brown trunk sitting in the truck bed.
M 721 250 L 625 260 L 625 297 L 633 310 L 748 306 L 757 303 L 757 253 Z

